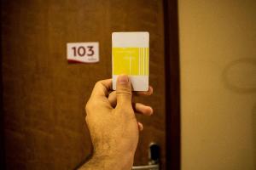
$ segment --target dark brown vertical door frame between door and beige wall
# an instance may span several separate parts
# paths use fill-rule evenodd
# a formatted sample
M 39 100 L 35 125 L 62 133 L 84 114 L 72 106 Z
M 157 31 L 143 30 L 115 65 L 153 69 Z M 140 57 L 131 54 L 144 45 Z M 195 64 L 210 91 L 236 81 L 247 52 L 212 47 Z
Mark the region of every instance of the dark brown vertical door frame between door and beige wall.
M 166 67 L 166 169 L 181 169 L 180 67 L 177 0 L 163 0 Z

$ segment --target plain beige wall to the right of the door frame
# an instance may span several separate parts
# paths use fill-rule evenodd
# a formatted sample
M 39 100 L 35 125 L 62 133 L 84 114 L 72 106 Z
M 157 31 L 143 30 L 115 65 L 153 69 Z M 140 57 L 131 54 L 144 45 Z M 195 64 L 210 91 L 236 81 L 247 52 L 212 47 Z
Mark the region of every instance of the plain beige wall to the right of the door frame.
M 178 1 L 182 169 L 256 168 L 256 1 Z

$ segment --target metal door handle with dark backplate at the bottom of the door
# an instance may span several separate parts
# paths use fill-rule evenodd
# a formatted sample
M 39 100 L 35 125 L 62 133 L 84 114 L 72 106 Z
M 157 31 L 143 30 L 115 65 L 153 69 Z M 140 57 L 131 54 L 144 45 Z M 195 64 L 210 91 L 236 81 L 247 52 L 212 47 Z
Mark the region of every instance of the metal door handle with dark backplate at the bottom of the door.
M 133 166 L 132 170 L 160 170 L 160 146 L 154 142 L 148 145 L 148 165 Z

